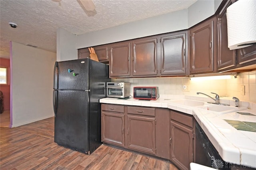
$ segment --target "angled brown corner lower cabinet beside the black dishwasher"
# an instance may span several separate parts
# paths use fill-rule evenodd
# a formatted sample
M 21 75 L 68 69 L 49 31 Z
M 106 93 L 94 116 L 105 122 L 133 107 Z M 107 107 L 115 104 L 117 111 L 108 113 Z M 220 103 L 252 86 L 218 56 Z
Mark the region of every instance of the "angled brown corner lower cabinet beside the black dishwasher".
M 170 113 L 170 160 L 182 170 L 193 162 L 194 123 L 192 115 Z

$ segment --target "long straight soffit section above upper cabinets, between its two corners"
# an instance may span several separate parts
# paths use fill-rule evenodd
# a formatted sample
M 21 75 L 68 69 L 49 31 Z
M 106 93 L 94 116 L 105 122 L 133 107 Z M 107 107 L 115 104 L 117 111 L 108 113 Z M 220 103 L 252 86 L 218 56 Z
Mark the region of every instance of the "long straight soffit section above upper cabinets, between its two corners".
M 146 37 L 188 28 L 188 10 L 180 10 L 145 20 L 118 25 L 77 36 L 77 48 Z

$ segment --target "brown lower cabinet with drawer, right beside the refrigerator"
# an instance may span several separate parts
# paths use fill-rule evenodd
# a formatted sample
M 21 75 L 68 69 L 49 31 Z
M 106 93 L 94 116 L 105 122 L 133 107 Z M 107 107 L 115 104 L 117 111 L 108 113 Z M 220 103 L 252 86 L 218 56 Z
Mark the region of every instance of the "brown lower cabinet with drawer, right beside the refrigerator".
M 124 147 L 124 106 L 102 104 L 102 142 Z

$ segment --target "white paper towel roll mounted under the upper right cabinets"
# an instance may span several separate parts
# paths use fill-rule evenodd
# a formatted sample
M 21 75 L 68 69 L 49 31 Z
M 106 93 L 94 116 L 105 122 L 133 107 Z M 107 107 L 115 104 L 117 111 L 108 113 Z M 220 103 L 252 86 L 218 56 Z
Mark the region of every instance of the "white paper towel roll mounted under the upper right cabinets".
M 256 43 L 256 0 L 238 0 L 227 8 L 226 15 L 230 50 Z

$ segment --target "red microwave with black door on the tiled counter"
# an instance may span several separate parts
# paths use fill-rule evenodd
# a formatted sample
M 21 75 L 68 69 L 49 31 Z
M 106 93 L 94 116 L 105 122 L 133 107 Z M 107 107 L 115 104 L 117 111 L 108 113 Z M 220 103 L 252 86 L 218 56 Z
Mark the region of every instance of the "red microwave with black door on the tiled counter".
M 158 87 L 134 87 L 133 98 L 142 100 L 157 100 L 159 98 Z

